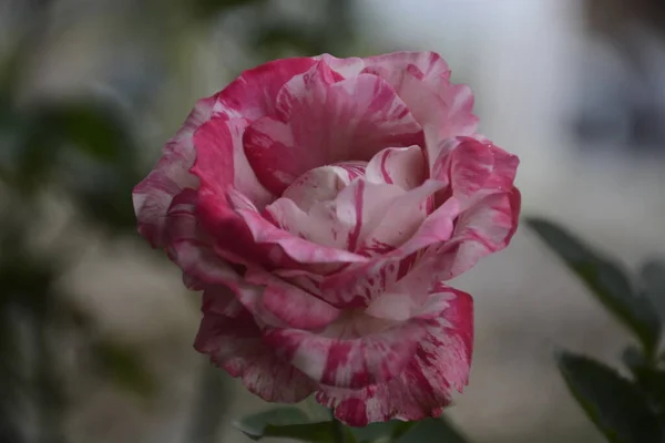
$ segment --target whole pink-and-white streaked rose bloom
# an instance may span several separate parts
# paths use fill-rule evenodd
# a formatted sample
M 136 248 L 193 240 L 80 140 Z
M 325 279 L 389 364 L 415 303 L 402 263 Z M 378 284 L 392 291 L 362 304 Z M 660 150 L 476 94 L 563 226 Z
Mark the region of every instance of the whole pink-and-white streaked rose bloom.
M 270 402 L 349 425 L 437 416 L 468 383 L 446 286 L 518 224 L 518 157 L 431 52 L 277 60 L 198 101 L 134 189 L 139 231 L 203 290 L 195 348 Z

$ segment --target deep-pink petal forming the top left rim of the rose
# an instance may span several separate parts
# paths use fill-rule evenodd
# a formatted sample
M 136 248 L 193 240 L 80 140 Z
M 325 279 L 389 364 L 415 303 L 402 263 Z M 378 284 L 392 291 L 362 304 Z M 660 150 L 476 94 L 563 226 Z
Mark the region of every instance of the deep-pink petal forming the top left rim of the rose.
M 225 119 L 255 121 L 276 112 L 282 86 L 316 64 L 311 58 L 275 60 L 243 72 L 215 95 L 214 111 Z

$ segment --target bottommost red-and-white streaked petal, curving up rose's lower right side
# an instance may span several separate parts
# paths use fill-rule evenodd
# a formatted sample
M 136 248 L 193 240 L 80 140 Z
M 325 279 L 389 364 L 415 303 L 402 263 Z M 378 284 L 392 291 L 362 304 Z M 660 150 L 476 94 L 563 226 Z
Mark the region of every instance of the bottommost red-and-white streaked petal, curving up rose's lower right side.
M 468 383 L 473 347 L 472 300 L 468 293 L 439 286 L 428 303 L 426 336 L 402 373 L 388 383 L 360 390 L 321 388 L 319 403 L 351 426 L 392 419 L 438 416 L 452 392 Z

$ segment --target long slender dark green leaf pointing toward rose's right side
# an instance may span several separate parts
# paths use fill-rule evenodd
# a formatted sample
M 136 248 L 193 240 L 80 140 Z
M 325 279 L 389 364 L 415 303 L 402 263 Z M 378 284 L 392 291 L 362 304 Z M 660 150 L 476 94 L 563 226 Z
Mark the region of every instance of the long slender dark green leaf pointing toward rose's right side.
M 661 321 L 651 301 L 635 293 L 624 270 L 551 222 L 529 218 L 526 223 L 605 308 L 640 338 L 647 353 L 653 353 L 661 338 Z

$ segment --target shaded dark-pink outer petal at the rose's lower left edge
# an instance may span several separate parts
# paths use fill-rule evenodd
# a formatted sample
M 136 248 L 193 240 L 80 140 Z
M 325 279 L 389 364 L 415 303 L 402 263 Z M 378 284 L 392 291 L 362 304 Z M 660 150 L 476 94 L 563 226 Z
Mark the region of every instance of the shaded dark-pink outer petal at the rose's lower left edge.
M 316 384 L 277 359 L 262 340 L 253 316 L 232 295 L 209 291 L 194 347 L 233 377 L 241 377 L 253 393 L 269 402 L 296 403 Z

